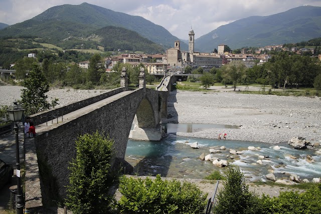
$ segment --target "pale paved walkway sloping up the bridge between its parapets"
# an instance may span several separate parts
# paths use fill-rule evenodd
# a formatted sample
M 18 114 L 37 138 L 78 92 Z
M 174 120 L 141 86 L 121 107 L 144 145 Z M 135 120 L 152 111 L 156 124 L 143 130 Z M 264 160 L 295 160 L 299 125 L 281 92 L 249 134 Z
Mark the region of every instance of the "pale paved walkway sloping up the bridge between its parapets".
M 112 102 L 112 101 L 114 101 L 116 99 L 119 99 L 119 98 L 121 98 L 123 96 L 126 96 L 126 95 L 128 95 L 128 94 L 130 94 L 132 92 L 134 92 L 134 90 L 123 91 L 123 92 L 117 93 L 115 95 L 112 95 L 110 97 L 102 99 L 102 100 L 100 100 L 98 102 L 95 102 L 93 104 L 87 105 L 87 106 L 85 106 L 85 107 L 83 107 L 81 109 L 78 109 L 78 110 L 74 111 L 74 112 L 68 113 L 68 114 L 63 115 L 63 116 L 59 116 L 59 117 L 57 117 L 57 118 L 55 118 L 53 120 L 48 121 L 47 123 L 39 124 L 39 125 L 36 126 L 36 134 L 37 134 L 37 132 L 45 129 L 46 127 L 57 126 L 57 124 L 64 123 L 64 122 L 68 121 L 68 119 L 71 119 L 76 115 L 84 114 L 84 113 L 88 112 L 91 109 L 94 110 L 100 105 L 104 105 L 106 103 Z M 57 123 L 57 119 L 58 119 L 58 123 Z

